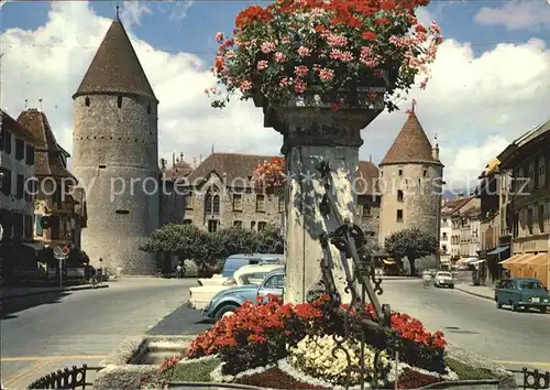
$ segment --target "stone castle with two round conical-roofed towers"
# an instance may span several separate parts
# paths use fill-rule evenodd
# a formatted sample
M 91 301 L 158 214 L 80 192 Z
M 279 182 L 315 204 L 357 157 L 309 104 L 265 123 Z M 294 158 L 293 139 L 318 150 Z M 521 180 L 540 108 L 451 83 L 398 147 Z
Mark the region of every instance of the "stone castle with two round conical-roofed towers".
M 172 167 L 164 160 L 158 166 L 158 99 L 118 18 L 73 98 L 74 172 L 88 210 L 82 249 L 92 262 L 102 258 L 124 273 L 152 273 L 155 256 L 139 248 L 166 223 L 216 231 L 283 221 L 283 198 L 256 193 L 252 183 L 254 167 L 272 156 L 212 150 L 198 165 L 182 154 Z M 409 112 L 380 166 L 359 164 L 358 225 L 381 246 L 408 227 L 439 237 L 442 174 L 438 144 L 432 148 Z

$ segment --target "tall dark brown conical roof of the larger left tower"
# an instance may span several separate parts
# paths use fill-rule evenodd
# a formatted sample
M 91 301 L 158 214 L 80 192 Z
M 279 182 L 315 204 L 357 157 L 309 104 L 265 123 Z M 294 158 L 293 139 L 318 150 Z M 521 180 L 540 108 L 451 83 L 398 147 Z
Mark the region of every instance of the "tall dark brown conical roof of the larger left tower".
M 158 101 L 118 17 L 107 31 L 73 99 L 102 93 L 142 95 Z

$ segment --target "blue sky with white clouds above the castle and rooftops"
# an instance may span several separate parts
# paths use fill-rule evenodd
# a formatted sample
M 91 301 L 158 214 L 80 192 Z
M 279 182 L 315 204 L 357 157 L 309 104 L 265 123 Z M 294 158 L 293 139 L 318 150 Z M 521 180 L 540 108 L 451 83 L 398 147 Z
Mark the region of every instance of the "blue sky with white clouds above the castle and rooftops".
M 257 1 L 256 1 L 257 2 Z M 16 117 L 41 108 L 57 141 L 73 150 L 73 100 L 116 15 L 114 1 L 0 0 L 0 107 Z M 212 151 L 278 154 L 282 136 L 263 127 L 250 101 L 210 107 L 205 88 L 215 34 L 230 33 L 252 1 L 124 1 L 120 18 L 160 99 L 160 156 L 193 163 Z M 266 2 L 261 2 L 265 4 Z M 362 131 L 362 160 L 378 163 L 415 111 L 446 165 L 447 189 L 475 178 L 508 143 L 550 119 L 550 0 L 432 0 L 417 13 L 437 21 L 444 42 L 426 90 Z M 38 102 L 42 99 L 42 102 Z M 26 100 L 26 102 L 25 102 Z

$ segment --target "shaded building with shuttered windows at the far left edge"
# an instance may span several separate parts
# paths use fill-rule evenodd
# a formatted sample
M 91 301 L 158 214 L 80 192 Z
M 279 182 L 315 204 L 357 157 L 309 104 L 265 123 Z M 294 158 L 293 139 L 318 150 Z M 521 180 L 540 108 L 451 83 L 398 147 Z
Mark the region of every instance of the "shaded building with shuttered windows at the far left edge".
M 35 148 L 43 142 L 29 129 L 1 111 L 0 133 L 0 258 L 2 269 L 24 259 L 18 251 L 28 247 L 30 254 L 40 250 L 33 241 Z M 29 252 L 28 250 L 28 252 Z M 19 259 L 19 260 L 16 260 Z

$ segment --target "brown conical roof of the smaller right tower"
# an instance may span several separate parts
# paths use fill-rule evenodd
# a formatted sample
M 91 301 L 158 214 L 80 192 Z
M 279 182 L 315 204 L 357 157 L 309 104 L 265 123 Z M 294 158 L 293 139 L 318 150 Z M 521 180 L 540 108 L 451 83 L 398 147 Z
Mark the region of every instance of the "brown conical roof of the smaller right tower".
M 441 164 L 439 160 L 433 159 L 431 143 L 417 116 L 410 112 L 381 165 L 419 162 Z

